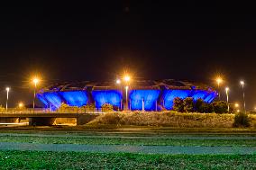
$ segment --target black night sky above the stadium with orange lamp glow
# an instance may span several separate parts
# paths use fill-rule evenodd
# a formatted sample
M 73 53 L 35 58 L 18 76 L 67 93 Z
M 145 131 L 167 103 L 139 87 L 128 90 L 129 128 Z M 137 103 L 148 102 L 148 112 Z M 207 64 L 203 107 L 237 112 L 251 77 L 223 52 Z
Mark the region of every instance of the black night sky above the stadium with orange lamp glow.
M 146 79 L 212 85 L 219 73 L 231 88 L 232 102 L 241 101 L 239 80 L 244 79 L 248 107 L 256 106 L 253 4 L 86 2 L 1 5 L 0 103 L 5 104 L 6 85 L 12 88 L 11 105 L 30 103 L 33 73 L 49 85 L 114 80 L 127 69 Z

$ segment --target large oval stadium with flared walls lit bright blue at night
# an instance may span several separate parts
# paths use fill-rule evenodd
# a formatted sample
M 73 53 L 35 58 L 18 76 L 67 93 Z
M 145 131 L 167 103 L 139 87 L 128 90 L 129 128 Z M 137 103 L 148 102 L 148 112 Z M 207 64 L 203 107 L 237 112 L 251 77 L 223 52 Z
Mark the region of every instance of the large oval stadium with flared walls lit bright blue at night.
M 85 106 L 95 103 L 101 109 L 105 103 L 112 104 L 122 111 L 162 111 L 171 110 L 176 97 L 192 97 L 195 101 L 203 99 L 212 103 L 217 96 L 215 89 L 187 81 L 133 80 L 129 85 L 115 82 L 77 82 L 49 85 L 37 93 L 37 98 L 45 108 L 57 110 L 61 103 L 70 106 Z

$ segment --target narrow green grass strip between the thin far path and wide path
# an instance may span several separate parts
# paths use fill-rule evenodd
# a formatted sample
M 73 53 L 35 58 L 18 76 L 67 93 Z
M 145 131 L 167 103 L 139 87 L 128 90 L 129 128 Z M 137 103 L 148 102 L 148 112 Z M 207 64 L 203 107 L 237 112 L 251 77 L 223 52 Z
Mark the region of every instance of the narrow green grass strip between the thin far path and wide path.
M 135 146 L 231 146 L 256 147 L 253 139 L 123 139 L 120 138 L 74 138 L 1 136 L 0 142 L 23 142 L 41 144 L 87 144 L 87 145 L 135 145 Z

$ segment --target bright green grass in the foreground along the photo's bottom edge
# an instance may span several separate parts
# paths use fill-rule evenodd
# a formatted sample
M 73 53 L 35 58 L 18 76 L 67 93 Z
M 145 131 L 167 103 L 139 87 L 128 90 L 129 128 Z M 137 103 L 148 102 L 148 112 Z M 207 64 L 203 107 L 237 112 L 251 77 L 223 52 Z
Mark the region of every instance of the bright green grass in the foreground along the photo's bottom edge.
M 186 156 L 0 151 L 1 169 L 255 169 L 256 155 Z

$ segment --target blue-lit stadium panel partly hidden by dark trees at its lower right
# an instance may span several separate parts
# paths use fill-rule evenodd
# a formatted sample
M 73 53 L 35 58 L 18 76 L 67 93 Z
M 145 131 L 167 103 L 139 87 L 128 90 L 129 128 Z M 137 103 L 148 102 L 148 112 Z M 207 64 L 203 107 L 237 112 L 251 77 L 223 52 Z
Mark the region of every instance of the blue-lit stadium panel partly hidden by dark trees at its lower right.
M 163 105 L 167 110 L 171 110 L 173 106 L 173 100 L 176 97 L 185 99 L 189 97 L 191 90 L 164 90 L 163 92 Z

